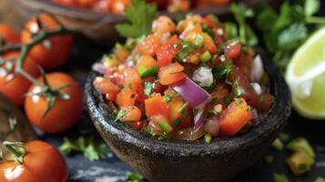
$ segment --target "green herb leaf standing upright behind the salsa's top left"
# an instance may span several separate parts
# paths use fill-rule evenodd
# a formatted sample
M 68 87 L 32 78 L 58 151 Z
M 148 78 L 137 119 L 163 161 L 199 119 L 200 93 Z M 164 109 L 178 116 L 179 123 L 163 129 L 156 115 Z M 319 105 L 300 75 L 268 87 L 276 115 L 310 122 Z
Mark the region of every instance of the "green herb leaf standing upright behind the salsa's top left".
M 151 32 L 151 24 L 157 17 L 157 6 L 146 4 L 145 0 L 132 0 L 127 6 L 125 16 L 129 23 L 116 25 L 119 35 L 137 38 Z

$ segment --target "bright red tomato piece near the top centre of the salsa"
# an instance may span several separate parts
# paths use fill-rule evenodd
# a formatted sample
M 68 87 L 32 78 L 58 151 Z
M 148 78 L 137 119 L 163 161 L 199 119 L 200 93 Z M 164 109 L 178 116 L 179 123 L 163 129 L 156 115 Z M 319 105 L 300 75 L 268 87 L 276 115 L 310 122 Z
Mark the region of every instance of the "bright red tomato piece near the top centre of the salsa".
M 176 57 L 178 51 L 180 50 L 180 46 L 175 46 L 179 44 L 179 39 L 177 35 L 173 35 L 168 39 L 168 42 L 164 45 L 159 46 L 157 48 L 157 62 L 158 66 L 168 66 L 171 64 L 174 57 Z

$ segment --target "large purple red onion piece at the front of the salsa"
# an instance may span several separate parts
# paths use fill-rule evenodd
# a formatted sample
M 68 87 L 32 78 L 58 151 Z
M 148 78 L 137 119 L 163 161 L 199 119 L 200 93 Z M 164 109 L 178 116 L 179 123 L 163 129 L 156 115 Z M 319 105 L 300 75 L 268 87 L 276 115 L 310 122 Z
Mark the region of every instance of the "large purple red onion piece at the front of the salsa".
M 192 108 L 205 106 L 210 100 L 208 92 L 188 77 L 171 86 Z

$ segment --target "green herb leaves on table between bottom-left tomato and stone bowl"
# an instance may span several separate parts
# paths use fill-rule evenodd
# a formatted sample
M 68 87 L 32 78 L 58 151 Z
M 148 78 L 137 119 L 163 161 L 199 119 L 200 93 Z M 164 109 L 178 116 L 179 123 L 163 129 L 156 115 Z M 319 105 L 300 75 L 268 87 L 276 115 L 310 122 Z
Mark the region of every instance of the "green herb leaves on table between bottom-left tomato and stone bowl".
M 60 150 L 66 153 L 81 152 L 90 161 L 107 157 L 109 152 L 107 145 L 103 142 L 95 142 L 93 136 L 79 136 L 75 140 L 64 137 Z

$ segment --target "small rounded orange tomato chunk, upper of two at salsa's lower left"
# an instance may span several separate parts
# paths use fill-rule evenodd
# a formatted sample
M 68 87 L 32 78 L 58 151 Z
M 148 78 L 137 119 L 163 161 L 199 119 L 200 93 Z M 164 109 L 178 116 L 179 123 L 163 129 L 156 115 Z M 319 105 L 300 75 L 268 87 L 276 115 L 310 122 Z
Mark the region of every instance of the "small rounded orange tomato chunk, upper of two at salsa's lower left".
M 128 88 L 123 88 L 117 94 L 117 105 L 118 106 L 134 106 L 136 102 L 136 93 Z

